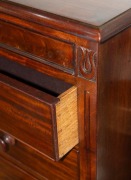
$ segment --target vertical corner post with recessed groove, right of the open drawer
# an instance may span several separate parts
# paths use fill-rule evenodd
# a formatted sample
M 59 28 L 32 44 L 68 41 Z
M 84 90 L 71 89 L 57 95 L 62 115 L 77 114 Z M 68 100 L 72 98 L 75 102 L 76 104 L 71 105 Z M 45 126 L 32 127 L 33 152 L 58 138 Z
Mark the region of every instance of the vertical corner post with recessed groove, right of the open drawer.
M 81 180 L 96 179 L 96 83 L 77 79 Z M 84 129 L 84 131 L 83 131 Z M 84 167 L 84 168 L 83 168 Z

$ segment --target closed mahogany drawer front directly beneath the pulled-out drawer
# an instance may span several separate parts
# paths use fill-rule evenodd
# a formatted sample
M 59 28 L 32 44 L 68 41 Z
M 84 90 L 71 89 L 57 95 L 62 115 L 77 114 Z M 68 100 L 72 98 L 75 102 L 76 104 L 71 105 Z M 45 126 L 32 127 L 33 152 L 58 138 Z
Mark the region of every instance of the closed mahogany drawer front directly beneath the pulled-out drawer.
M 0 131 L 0 136 L 3 135 L 5 133 Z M 17 141 L 6 153 L 0 152 L 0 156 L 13 161 L 20 168 L 24 166 L 30 174 L 33 171 L 38 179 L 79 180 L 79 151 L 76 148 L 59 162 L 55 162 Z

